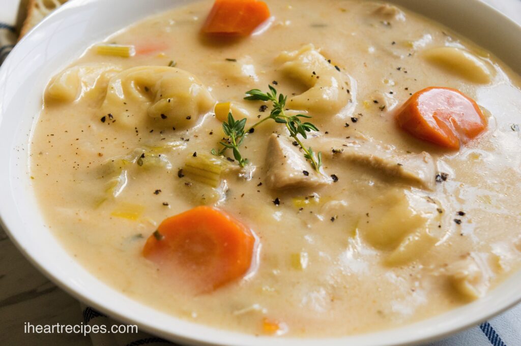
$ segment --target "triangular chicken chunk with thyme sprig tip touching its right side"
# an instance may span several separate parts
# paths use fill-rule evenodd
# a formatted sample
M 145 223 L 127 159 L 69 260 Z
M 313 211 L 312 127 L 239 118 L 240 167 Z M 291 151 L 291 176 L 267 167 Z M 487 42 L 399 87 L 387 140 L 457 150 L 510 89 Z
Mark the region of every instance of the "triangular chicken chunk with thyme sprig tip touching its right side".
M 332 182 L 311 167 L 298 147 L 277 134 L 268 139 L 266 167 L 266 183 L 272 189 L 316 187 Z

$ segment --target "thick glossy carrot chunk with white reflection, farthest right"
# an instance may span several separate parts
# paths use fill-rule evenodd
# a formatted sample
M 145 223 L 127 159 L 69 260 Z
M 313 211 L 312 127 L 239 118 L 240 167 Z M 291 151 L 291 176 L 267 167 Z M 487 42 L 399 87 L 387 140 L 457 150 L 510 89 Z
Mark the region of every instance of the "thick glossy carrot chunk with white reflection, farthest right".
M 428 87 L 411 96 L 396 114 L 396 121 L 413 136 L 450 149 L 459 149 L 487 129 L 476 102 L 445 87 Z

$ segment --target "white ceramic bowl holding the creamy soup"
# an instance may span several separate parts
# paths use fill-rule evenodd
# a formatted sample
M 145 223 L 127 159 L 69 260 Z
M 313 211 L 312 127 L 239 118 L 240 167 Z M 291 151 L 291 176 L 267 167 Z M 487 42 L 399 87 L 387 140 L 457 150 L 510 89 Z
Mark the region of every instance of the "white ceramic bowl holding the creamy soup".
M 521 272 L 485 298 L 392 330 L 337 339 L 254 337 L 182 321 L 127 298 L 88 273 L 43 226 L 28 173 L 28 142 L 47 81 L 91 44 L 127 25 L 191 0 L 72 0 L 11 52 L 0 70 L 0 221 L 26 257 L 58 286 L 122 322 L 188 344 L 406 345 L 476 325 L 521 300 Z M 448 25 L 521 73 L 521 27 L 478 0 L 395 0 Z M 349 312 L 346 312 L 349 313 Z

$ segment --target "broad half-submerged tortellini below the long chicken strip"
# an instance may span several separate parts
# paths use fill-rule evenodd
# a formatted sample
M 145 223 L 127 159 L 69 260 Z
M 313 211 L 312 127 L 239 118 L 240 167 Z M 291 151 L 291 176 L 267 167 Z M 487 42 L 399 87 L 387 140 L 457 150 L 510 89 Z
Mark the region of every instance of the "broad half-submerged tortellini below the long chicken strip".
M 418 259 L 439 240 L 439 209 L 428 198 L 392 190 L 376 201 L 359 228 L 371 246 L 388 251 L 386 264 L 400 265 Z

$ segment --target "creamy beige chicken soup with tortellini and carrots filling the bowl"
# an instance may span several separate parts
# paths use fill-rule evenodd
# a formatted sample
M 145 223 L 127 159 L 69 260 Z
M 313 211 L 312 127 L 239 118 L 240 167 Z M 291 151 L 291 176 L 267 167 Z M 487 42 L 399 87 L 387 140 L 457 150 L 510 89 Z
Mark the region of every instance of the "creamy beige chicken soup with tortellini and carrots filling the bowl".
M 266 3 L 239 36 L 208 29 L 209 1 L 147 18 L 49 82 L 31 175 L 73 257 L 157 310 L 302 337 L 412 323 L 516 271 L 519 76 L 406 9 Z

